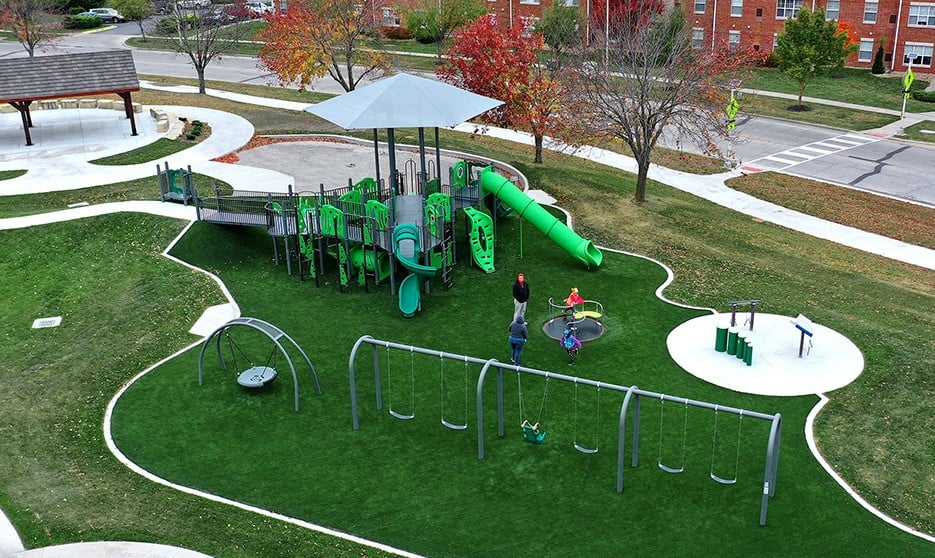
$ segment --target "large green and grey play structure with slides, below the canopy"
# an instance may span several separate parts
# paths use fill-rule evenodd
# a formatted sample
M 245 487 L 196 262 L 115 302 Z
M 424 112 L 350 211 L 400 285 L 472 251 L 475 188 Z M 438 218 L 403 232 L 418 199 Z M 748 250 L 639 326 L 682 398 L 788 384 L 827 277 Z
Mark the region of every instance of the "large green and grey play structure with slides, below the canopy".
M 405 168 L 411 172 L 391 177 L 395 187 L 364 178 L 342 188 L 320 184 L 317 192 L 298 193 L 291 187 L 286 193 L 230 192 L 215 185 L 213 195 L 201 196 L 192 185 L 191 200 L 200 221 L 265 227 L 273 237 L 276 263 L 281 241 L 287 272 L 292 274 L 295 264 L 300 276 L 315 279 L 316 285 L 330 261 L 337 264 L 342 291 L 351 285 L 369 291 L 370 285 L 389 279 L 391 294 L 398 294 L 406 317 L 421 309 L 430 279 L 438 277 L 448 288 L 453 284 L 459 210 L 471 261 L 485 273 L 495 271 L 495 216 L 511 212 L 589 268 L 603 259 L 590 241 L 549 214 L 491 163 L 459 161 L 449 169 L 447 183 L 430 174 L 437 166 L 423 164 L 423 170 L 416 171 L 414 163 L 407 163 Z M 171 172 L 160 170 L 160 185 L 169 183 Z M 397 263 L 402 270 L 397 271 Z M 401 271 L 407 276 L 398 278 Z

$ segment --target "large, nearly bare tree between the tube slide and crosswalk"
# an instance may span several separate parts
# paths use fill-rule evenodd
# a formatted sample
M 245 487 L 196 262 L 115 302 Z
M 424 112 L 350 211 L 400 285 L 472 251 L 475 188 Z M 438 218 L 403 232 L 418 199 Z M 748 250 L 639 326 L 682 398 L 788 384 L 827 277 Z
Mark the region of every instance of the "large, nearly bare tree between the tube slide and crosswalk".
M 680 9 L 634 7 L 614 14 L 610 40 L 579 51 L 572 88 L 581 122 L 598 138 L 621 140 L 637 164 L 634 201 L 646 199 L 650 155 L 667 129 L 691 137 L 709 153 L 727 136 L 725 85 L 745 53 L 693 48 L 691 28 Z

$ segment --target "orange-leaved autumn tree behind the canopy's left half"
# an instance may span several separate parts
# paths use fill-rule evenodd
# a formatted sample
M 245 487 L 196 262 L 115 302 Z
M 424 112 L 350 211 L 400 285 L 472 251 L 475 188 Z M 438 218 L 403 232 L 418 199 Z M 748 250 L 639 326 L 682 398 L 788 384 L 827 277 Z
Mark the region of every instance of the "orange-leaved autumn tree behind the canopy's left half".
M 260 61 L 282 83 L 308 87 L 330 76 L 353 91 L 371 74 L 389 69 L 386 56 L 373 48 L 380 26 L 378 0 L 297 0 L 267 17 L 258 34 Z

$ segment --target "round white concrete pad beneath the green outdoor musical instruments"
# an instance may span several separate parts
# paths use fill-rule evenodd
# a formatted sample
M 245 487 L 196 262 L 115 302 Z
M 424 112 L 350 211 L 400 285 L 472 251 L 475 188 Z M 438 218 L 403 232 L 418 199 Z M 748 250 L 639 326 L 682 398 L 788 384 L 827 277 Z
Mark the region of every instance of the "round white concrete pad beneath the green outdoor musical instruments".
M 734 355 L 714 350 L 717 325 L 729 325 L 730 315 L 701 316 L 673 329 L 666 345 L 673 360 L 688 373 L 712 384 L 757 395 L 809 395 L 825 393 L 853 382 L 864 369 L 864 357 L 854 343 L 840 333 L 814 324 L 811 345 L 799 358 L 800 332 L 792 319 L 776 314 L 756 314 L 754 331 L 737 323 L 753 340 L 751 366 Z

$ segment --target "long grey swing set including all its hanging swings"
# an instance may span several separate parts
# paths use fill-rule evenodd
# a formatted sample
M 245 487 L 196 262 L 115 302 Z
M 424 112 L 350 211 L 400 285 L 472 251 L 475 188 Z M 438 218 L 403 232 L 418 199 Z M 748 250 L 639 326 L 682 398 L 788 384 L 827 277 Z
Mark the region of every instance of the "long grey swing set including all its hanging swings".
M 617 492 L 623 491 L 623 481 L 624 481 L 624 471 L 625 471 L 625 458 L 626 458 L 626 432 L 627 432 L 627 419 L 632 413 L 632 425 L 631 433 L 633 440 L 631 442 L 631 456 L 630 456 L 630 467 L 635 468 L 639 464 L 639 446 L 640 446 L 640 419 L 642 417 L 642 404 L 643 399 L 656 399 L 660 402 L 660 455 L 658 459 L 658 466 L 663 471 L 669 473 L 679 473 L 684 469 L 684 452 L 686 446 L 687 436 L 687 410 L 689 407 L 695 407 L 700 409 L 707 409 L 714 411 L 714 439 L 712 440 L 712 459 L 711 459 L 711 471 L 709 473 L 712 480 L 718 482 L 719 484 L 731 485 L 737 482 L 737 469 L 739 467 L 740 460 L 740 440 L 742 438 L 743 430 L 743 419 L 756 419 L 767 421 L 770 424 L 769 434 L 766 440 L 766 456 L 764 459 L 764 473 L 763 473 L 763 490 L 762 497 L 760 500 L 760 525 L 766 525 L 767 510 L 769 506 L 769 499 L 775 496 L 776 493 L 776 479 L 779 466 L 779 449 L 780 449 L 780 436 L 782 433 L 782 416 L 779 413 L 772 415 L 760 413 L 756 411 L 749 411 L 745 409 L 738 409 L 729 406 L 718 405 L 714 403 L 709 403 L 706 401 L 696 401 L 693 399 L 688 399 L 684 397 L 677 397 L 672 395 L 666 395 L 662 393 L 656 393 L 652 391 L 647 391 L 639 389 L 636 386 L 620 386 L 617 384 L 605 383 L 595 380 L 590 380 L 587 378 L 567 376 L 564 374 L 557 374 L 554 372 L 546 370 L 538 370 L 534 368 L 527 368 L 523 366 L 517 366 L 512 364 L 503 364 L 498 362 L 496 359 L 481 359 L 476 357 L 471 357 L 467 355 L 459 355 L 454 353 L 447 353 L 444 351 L 438 351 L 433 349 L 427 349 L 424 347 L 417 347 L 413 345 L 404 345 L 400 343 L 395 343 L 392 341 L 375 339 L 369 335 L 364 335 L 360 337 L 357 342 L 354 344 L 353 349 L 351 349 L 351 355 L 349 358 L 349 369 L 348 369 L 348 379 L 350 382 L 350 395 L 351 395 L 351 418 L 352 425 L 354 430 L 360 428 L 359 418 L 358 418 L 358 401 L 357 401 L 357 377 L 356 377 L 356 359 L 358 353 L 365 345 L 370 345 L 373 353 L 373 374 L 374 374 L 374 384 L 376 392 L 376 408 L 378 410 L 383 409 L 383 388 L 381 380 L 381 365 L 380 365 L 380 351 L 381 349 L 389 352 L 392 349 L 408 352 L 410 354 L 410 381 L 415 381 L 415 374 L 412 372 L 414 364 L 414 355 L 427 355 L 431 357 L 437 357 L 441 363 L 442 370 L 444 370 L 445 360 L 452 360 L 457 362 L 464 362 L 465 367 L 468 363 L 481 365 L 480 375 L 477 379 L 476 384 L 476 425 L 477 425 L 477 456 L 479 459 L 484 459 L 485 450 L 484 450 L 484 383 L 487 378 L 488 372 L 493 369 L 496 372 L 496 382 L 497 382 L 497 433 L 500 437 L 505 436 L 505 426 L 504 426 L 504 396 L 503 396 L 503 373 L 504 371 L 515 372 L 517 374 L 517 383 L 519 389 L 519 397 L 522 400 L 522 383 L 521 376 L 523 374 L 528 376 L 538 376 L 545 379 L 545 388 L 543 390 L 542 403 L 540 405 L 539 417 L 536 419 L 536 423 L 532 424 L 525 418 L 523 415 L 524 410 L 521 408 L 520 414 L 522 419 L 522 430 L 524 439 L 528 442 L 534 444 L 541 444 L 545 442 L 546 433 L 542 429 L 539 419 L 541 419 L 542 411 L 545 407 L 546 397 L 548 394 L 548 382 L 550 380 L 562 381 L 573 383 L 575 387 L 575 440 L 574 447 L 578 451 L 586 454 L 593 454 L 599 451 L 597 443 L 595 442 L 594 447 L 584 446 L 578 440 L 578 428 L 577 428 L 577 417 L 578 417 L 578 408 L 577 408 L 577 396 L 579 386 L 589 386 L 597 389 L 598 394 L 598 409 L 600 409 L 600 393 L 603 391 L 613 391 L 623 394 L 623 401 L 620 407 L 620 418 L 617 425 Z M 466 373 L 466 372 L 465 372 Z M 387 375 L 389 376 L 389 368 L 387 370 Z M 441 376 L 444 378 L 444 375 Z M 442 380 L 444 381 L 444 380 Z M 466 380 L 467 381 L 467 380 Z M 410 393 L 412 393 L 413 386 L 410 387 Z M 391 392 L 389 392 L 391 397 Z M 467 398 L 467 393 L 465 393 Z M 414 400 L 411 399 L 411 402 Z M 684 424 L 686 428 L 683 429 L 683 438 L 682 438 L 682 457 L 680 462 L 675 465 L 668 465 L 663 462 L 662 456 L 662 438 L 663 438 L 663 414 L 664 406 L 666 403 L 677 403 L 683 406 L 685 414 Z M 392 407 L 392 403 L 389 405 L 389 412 L 391 415 L 397 418 L 412 419 L 415 418 L 415 408 L 414 405 L 409 409 L 409 412 L 403 414 L 399 413 Z M 599 412 L 599 411 L 598 411 Z M 721 413 L 737 415 L 740 417 L 739 426 L 737 432 L 737 457 L 735 469 L 733 472 L 733 478 L 729 475 L 718 474 L 714 470 L 714 457 L 717 452 L 718 447 L 718 437 L 717 437 L 717 421 L 718 416 Z M 445 423 L 444 419 L 444 407 L 442 407 L 442 423 Z M 598 428 L 600 423 L 598 422 Z

